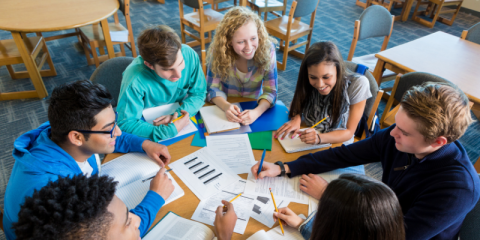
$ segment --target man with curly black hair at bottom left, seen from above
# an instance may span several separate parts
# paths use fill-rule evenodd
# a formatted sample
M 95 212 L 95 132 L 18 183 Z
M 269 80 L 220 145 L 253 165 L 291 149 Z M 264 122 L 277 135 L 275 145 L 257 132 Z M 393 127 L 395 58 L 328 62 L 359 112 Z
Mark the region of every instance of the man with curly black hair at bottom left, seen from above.
M 163 192 L 161 181 L 168 180 L 164 173 L 162 168 L 150 183 L 147 196 L 130 211 L 114 195 L 117 182 L 112 178 L 98 175 L 59 177 L 26 198 L 18 222 L 13 224 L 17 239 L 140 240 L 160 209 L 156 201 L 163 200 L 158 195 Z M 219 207 L 217 215 L 220 212 L 236 220 L 233 205 L 227 201 L 223 204 L 227 212 L 223 215 L 223 207 Z M 230 239 L 235 221 L 231 227 L 218 226 L 219 218 L 215 219 L 217 236 L 220 240 Z

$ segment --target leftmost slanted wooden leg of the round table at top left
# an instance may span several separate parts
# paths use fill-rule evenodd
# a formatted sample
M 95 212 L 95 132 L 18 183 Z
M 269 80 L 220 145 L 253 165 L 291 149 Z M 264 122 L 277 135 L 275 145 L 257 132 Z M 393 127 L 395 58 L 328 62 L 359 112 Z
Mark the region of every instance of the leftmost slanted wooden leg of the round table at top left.
M 13 39 L 15 40 L 15 44 L 17 45 L 18 52 L 22 56 L 23 63 L 27 68 L 28 73 L 30 74 L 30 79 L 32 80 L 32 84 L 35 87 L 37 92 L 38 98 L 42 99 L 48 96 L 47 89 L 45 88 L 45 84 L 43 84 L 42 76 L 40 75 L 40 71 L 38 71 L 37 64 L 35 63 L 35 59 L 32 59 L 30 53 L 25 46 L 25 42 L 19 32 L 12 32 Z

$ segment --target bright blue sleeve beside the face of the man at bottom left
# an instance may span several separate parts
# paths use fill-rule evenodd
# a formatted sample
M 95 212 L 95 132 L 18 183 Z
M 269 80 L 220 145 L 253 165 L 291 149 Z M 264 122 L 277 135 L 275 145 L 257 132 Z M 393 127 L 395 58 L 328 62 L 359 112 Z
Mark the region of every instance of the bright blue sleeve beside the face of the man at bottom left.
M 155 221 L 155 216 L 157 216 L 158 211 L 164 204 L 165 200 L 162 196 L 149 190 L 142 202 L 130 210 L 131 213 L 137 215 L 142 220 L 138 228 L 141 237 L 145 236 L 150 226 L 152 226 Z

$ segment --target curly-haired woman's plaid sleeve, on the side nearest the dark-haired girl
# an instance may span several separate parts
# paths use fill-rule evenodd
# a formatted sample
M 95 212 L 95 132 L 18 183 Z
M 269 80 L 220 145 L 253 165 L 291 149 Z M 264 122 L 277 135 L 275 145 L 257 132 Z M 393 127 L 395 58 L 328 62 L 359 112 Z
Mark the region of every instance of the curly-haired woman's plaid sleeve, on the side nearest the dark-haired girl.
M 273 107 L 277 101 L 277 89 L 278 89 L 278 75 L 277 75 L 277 56 L 275 52 L 275 46 L 272 46 L 270 51 L 270 69 L 263 77 L 262 90 L 263 93 L 258 97 L 258 102 L 261 99 L 266 99 L 270 102 L 270 106 Z

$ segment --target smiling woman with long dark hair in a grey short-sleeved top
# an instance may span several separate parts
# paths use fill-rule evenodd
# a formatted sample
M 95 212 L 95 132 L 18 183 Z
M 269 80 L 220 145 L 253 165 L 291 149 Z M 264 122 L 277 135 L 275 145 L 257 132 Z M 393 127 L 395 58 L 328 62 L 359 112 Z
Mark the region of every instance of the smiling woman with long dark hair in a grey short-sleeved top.
M 300 66 L 290 107 L 291 120 L 277 130 L 275 138 L 300 134 L 302 142 L 308 144 L 352 143 L 366 99 L 371 96 L 368 79 L 347 71 L 335 44 L 315 43 Z M 302 118 L 309 127 L 326 120 L 315 129 L 302 132 Z

